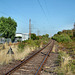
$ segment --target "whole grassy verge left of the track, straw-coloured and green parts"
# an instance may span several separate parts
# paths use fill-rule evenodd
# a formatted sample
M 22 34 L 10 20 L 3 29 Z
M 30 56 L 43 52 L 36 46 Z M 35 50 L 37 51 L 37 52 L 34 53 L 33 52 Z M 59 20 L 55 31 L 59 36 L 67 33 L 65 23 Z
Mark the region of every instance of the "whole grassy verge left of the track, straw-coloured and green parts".
M 5 49 L 0 50 L 0 65 L 8 64 L 12 62 L 12 60 L 23 60 L 29 53 L 38 48 L 41 48 L 46 43 L 48 42 L 42 42 L 41 40 L 27 40 L 20 43 L 19 45 L 12 45 L 11 48 L 14 54 L 7 54 L 10 46 L 5 43 Z

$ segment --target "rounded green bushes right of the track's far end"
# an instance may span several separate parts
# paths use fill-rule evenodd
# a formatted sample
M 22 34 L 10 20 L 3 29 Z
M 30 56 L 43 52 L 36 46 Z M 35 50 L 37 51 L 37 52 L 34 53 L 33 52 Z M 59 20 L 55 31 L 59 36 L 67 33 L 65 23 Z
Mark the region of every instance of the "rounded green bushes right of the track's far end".
M 55 34 L 52 39 L 58 41 L 58 42 L 62 42 L 62 43 L 68 43 L 68 42 L 72 42 L 72 38 L 73 37 L 73 31 L 72 30 L 63 30 L 62 32 L 59 31 L 57 34 Z

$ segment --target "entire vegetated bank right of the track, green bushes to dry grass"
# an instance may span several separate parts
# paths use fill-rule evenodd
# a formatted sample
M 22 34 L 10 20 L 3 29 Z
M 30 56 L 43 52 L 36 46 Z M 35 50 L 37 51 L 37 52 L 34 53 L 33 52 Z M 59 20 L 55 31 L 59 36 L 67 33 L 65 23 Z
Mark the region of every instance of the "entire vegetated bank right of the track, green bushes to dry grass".
M 74 75 L 75 74 L 75 37 L 74 30 L 63 30 L 55 34 L 52 39 L 61 45 L 58 56 L 58 75 Z M 64 49 L 63 49 L 64 48 Z M 65 52 L 64 52 L 65 51 Z

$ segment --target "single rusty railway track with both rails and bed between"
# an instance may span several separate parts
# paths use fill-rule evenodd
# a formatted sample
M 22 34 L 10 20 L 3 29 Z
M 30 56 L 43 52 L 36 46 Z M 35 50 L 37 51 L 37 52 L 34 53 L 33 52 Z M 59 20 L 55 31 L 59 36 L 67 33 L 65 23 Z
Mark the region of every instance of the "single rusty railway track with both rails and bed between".
M 53 45 L 54 41 L 51 40 L 42 49 L 21 61 L 20 64 L 6 72 L 4 75 L 39 75 L 44 63 L 52 51 Z

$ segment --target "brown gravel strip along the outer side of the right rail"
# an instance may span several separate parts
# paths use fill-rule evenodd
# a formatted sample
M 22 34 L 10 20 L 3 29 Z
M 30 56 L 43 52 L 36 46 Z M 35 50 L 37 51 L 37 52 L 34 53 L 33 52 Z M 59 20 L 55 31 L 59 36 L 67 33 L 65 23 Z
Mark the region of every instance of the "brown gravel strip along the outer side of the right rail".
M 49 55 L 45 65 L 42 68 L 40 75 L 57 75 L 55 73 L 55 69 L 57 68 L 57 63 L 56 63 L 57 56 L 58 56 L 57 52 L 52 52 Z

